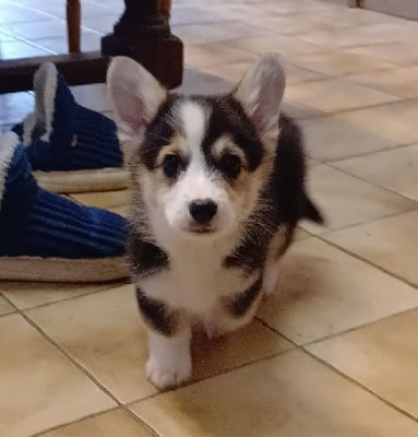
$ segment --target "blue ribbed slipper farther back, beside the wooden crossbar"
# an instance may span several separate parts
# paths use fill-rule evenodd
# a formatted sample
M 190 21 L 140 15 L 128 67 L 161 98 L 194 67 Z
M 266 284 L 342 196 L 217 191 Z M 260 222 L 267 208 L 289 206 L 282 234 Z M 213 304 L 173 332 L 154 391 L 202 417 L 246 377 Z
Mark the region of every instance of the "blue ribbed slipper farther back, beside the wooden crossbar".
M 55 192 L 126 188 L 129 176 L 115 122 L 79 105 L 53 63 L 36 71 L 34 91 L 35 113 L 13 131 L 39 185 Z

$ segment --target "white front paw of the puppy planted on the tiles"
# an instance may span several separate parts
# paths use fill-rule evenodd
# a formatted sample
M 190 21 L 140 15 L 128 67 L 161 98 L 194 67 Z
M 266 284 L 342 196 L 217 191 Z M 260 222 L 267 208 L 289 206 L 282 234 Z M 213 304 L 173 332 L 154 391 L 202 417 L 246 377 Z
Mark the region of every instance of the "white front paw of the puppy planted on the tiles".
M 160 390 L 172 389 L 187 382 L 192 373 L 191 363 L 181 363 L 177 366 L 170 363 L 158 363 L 150 358 L 146 363 L 146 376 L 148 380 Z

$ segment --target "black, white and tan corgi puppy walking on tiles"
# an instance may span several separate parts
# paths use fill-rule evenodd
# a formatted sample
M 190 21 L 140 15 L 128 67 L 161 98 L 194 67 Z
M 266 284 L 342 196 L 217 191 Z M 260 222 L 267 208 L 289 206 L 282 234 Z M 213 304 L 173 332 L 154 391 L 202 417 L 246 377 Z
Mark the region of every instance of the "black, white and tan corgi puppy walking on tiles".
M 306 192 L 300 130 L 280 111 L 277 56 L 227 95 L 169 94 L 124 57 L 107 83 L 133 185 L 128 249 L 146 374 L 172 388 L 191 377 L 192 324 L 214 336 L 250 322 L 298 221 L 322 216 Z

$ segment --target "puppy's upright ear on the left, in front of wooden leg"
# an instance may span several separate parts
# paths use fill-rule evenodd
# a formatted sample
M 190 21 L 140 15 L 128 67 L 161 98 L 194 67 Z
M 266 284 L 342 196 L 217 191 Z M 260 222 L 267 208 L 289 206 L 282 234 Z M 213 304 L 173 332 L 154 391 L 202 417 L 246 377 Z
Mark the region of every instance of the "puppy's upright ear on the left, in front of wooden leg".
M 127 57 L 114 58 L 106 82 L 120 141 L 141 143 L 147 126 L 166 101 L 167 91 L 142 66 Z

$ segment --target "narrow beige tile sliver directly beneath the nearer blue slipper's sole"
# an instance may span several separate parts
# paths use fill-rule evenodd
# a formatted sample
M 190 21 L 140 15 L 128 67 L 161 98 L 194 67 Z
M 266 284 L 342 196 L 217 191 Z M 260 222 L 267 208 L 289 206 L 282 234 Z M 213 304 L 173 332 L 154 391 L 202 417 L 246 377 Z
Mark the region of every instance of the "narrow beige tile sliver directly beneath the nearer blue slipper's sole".
M 109 287 L 103 284 L 64 284 L 47 282 L 0 282 L 0 293 L 17 308 L 25 309 L 68 299 Z

